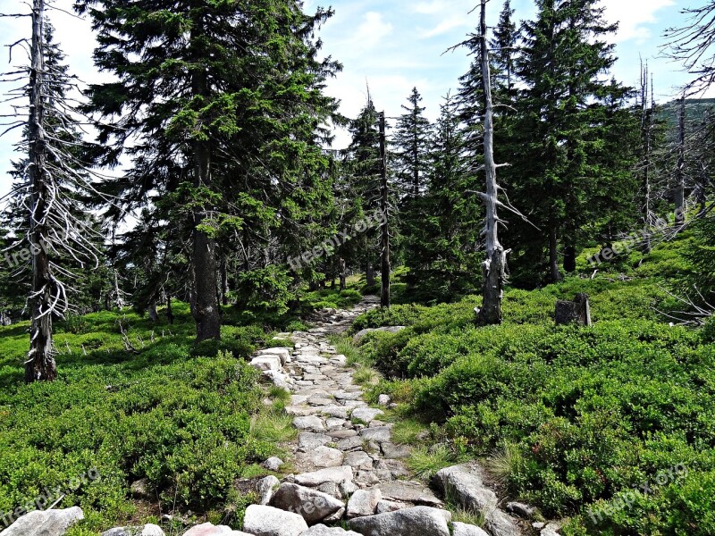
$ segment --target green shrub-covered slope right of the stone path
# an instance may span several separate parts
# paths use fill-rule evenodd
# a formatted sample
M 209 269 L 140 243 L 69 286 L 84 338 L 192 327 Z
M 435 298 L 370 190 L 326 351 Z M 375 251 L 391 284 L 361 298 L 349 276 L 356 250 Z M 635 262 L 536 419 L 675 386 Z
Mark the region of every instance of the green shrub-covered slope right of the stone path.
M 715 534 L 715 346 L 656 311 L 677 308 L 660 285 L 687 270 L 688 240 L 621 259 L 627 281 L 510 289 L 498 327 L 473 326 L 478 297 L 367 314 L 356 330 L 408 325 L 366 338 L 368 361 L 408 378 L 373 395 L 437 423 L 455 455 L 492 456 L 512 497 L 572 518 L 567 535 Z M 595 325 L 555 326 L 556 298 L 576 292 Z M 645 482 L 650 493 L 628 493 Z

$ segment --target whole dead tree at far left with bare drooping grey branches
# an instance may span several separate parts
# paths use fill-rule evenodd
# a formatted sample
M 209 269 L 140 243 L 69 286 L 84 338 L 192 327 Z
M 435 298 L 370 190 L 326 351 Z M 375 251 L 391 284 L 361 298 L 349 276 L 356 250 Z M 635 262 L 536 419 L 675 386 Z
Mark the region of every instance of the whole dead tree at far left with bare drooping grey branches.
M 81 145 L 76 130 L 78 120 L 68 96 L 76 82 L 62 65 L 46 62 L 51 48 L 45 0 L 33 0 L 29 7 L 30 13 L 4 14 L 29 17 L 32 35 L 30 40 L 13 44 L 29 45 L 29 65 L 4 73 L 2 81 L 25 81 L 7 93 L 6 101 L 13 102 L 15 113 L 12 121 L 5 123 L 5 132 L 24 127 L 17 149 L 28 155 L 24 181 L 8 198 L 12 197 L 28 214 L 24 246 L 30 253 L 32 288 L 28 297 L 31 326 L 25 381 L 31 382 L 52 381 L 57 375 L 53 315 L 62 316 L 68 310 L 71 289 L 58 277 L 70 280 L 74 275 L 57 264 L 56 258 L 62 254 L 79 264 L 97 264 L 98 259 L 92 240 L 97 231 L 88 221 L 80 220 L 75 210 L 79 192 L 97 193 L 91 175 L 77 156 Z M 28 105 L 15 104 L 27 96 Z M 26 121 L 21 120 L 23 116 Z

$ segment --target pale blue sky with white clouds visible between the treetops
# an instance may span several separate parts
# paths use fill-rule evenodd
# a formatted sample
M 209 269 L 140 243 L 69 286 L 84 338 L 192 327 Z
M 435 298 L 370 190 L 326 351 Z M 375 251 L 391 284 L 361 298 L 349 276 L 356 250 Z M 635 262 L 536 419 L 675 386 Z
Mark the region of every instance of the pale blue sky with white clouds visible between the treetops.
M 687 81 L 687 76 L 679 65 L 659 57 L 662 33 L 684 21 L 680 10 L 702 1 L 602 0 L 607 19 L 620 22 L 618 34 L 613 38 L 619 58 L 613 71 L 616 78 L 627 85 L 637 84 L 643 57 L 651 63 L 657 99 L 664 102 L 676 96 L 678 86 Z M 343 72 L 328 87 L 332 96 L 341 99 L 342 113 L 354 116 L 359 111 L 366 102 L 369 84 L 378 109 L 384 109 L 389 116 L 399 115 L 400 105 L 416 87 L 425 97 L 428 116 L 435 119 L 442 96 L 458 87 L 458 77 L 467 71 L 469 64 L 466 50 L 443 53 L 475 28 L 477 13 L 467 13 L 476 3 L 476 0 L 306 0 L 307 10 L 332 5 L 336 12 L 320 36 L 324 40 L 324 53 L 344 64 Z M 18 4 L 17 0 L 0 0 L 0 12 L 11 12 Z M 70 10 L 72 0 L 55 0 L 54 4 Z M 501 5 L 501 0 L 490 1 L 490 24 L 496 23 Z M 534 15 L 531 0 L 514 0 L 512 5 L 519 20 Z M 51 12 L 50 16 L 72 71 L 87 82 L 106 79 L 92 65 L 94 38 L 88 21 L 61 11 Z M 28 31 L 26 19 L 0 19 L 3 44 L 26 37 Z M 3 62 L 6 57 L 5 53 L 0 56 Z M 0 106 L 0 110 L 7 113 L 6 107 Z M 0 138 L 0 193 L 10 186 L 4 171 L 10 169 L 16 139 Z M 345 133 L 339 133 L 336 147 L 346 143 Z

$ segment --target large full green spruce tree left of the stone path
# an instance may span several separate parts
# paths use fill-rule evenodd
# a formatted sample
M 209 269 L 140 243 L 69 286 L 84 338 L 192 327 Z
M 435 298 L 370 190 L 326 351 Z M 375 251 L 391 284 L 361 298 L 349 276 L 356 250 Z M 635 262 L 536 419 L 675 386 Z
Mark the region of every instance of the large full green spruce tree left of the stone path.
M 285 264 L 287 255 L 264 255 L 270 244 L 297 244 L 330 200 L 321 144 L 337 104 L 322 89 L 340 65 L 316 58 L 315 30 L 332 11 L 307 15 L 295 0 L 84 0 L 79 9 L 98 32 L 97 66 L 119 79 L 90 90 L 95 112 L 121 118 L 101 132 L 111 142 L 104 162 L 126 152 L 134 163 L 107 188 L 131 208 L 175 196 L 189 209 L 191 310 L 198 339 L 217 339 L 217 236 L 240 232 L 263 252 L 258 269 Z M 272 225 L 248 228 L 269 214 Z

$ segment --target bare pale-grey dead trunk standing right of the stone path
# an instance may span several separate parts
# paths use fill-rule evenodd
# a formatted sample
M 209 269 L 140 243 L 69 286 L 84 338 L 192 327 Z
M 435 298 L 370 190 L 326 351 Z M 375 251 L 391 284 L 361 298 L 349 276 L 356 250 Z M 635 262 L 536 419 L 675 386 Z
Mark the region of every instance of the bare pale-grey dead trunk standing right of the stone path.
M 489 65 L 489 47 L 486 39 L 486 2 L 482 2 L 480 23 L 482 86 L 484 88 L 484 170 L 486 175 L 486 259 L 482 264 L 484 272 L 484 302 L 479 310 L 479 322 L 484 325 L 501 323 L 501 297 L 503 295 L 506 266 L 506 252 L 499 243 L 499 187 L 497 185 L 497 166 L 494 163 L 494 117 L 492 111 L 492 80 Z

